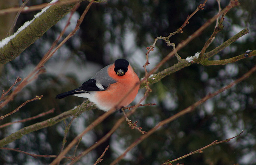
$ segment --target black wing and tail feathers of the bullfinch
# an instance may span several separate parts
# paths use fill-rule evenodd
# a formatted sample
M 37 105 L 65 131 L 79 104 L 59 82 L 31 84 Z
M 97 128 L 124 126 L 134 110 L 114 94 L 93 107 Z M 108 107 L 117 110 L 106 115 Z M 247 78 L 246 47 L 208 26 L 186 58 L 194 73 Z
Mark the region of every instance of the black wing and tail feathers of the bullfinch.
M 85 81 L 82 84 L 82 86 L 79 88 L 58 94 L 55 99 L 62 99 L 64 97 L 67 97 L 70 95 L 75 95 L 75 94 L 80 94 L 80 93 L 88 93 L 88 92 L 93 92 L 93 91 L 105 91 L 107 89 L 107 87 L 105 87 L 105 86 L 103 86 L 103 87 L 104 87 L 104 89 L 98 88 L 96 85 L 96 80 L 90 79 L 88 81 Z

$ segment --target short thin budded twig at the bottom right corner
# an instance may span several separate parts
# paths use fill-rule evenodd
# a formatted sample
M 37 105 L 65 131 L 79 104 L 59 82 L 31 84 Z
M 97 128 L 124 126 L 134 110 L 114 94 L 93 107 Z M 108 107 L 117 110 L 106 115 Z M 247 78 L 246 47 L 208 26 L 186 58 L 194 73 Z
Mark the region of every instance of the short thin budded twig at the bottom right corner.
M 177 161 L 177 160 L 183 159 L 183 158 L 188 157 L 188 156 L 190 156 L 190 155 L 193 155 L 193 154 L 195 154 L 195 153 L 203 153 L 202 150 L 204 150 L 204 149 L 206 149 L 206 148 L 208 148 L 208 147 L 210 147 L 210 146 L 216 145 L 216 144 L 230 142 L 230 140 L 232 140 L 232 139 L 234 139 L 234 138 L 236 138 L 236 137 L 238 137 L 238 136 L 241 136 L 242 133 L 243 133 L 243 131 L 242 131 L 240 134 L 238 134 L 238 135 L 236 135 L 236 136 L 234 136 L 234 137 L 232 137 L 232 138 L 228 138 L 228 139 L 222 140 L 222 141 L 220 141 L 220 142 L 218 142 L 217 140 L 215 140 L 213 143 L 208 144 L 208 145 L 206 145 L 206 146 L 204 146 L 204 147 L 202 147 L 202 148 L 200 148 L 200 149 L 198 149 L 198 150 L 195 150 L 194 152 L 191 152 L 191 153 L 189 153 L 189 154 L 186 154 L 186 155 L 184 155 L 184 156 L 181 156 L 181 157 L 179 157 L 179 158 L 177 158 L 177 159 L 174 159 L 174 160 L 172 160 L 172 161 L 167 160 L 167 161 L 166 161 L 165 163 L 163 163 L 162 165 L 170 164 L 170 163 L 172 163 L 172 162 L 175 162 L 175 161 Z

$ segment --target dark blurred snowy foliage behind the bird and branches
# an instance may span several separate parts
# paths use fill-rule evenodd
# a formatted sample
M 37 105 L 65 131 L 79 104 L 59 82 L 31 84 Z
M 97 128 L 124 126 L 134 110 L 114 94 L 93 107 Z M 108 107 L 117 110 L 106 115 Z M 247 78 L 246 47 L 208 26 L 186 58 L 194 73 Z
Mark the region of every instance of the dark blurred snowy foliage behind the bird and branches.
M 13 4 L 9 4 L 7 1 L 0 2 L 1 9 L 22 4 L 21 0 L 9 1 Z M 27 6 L 45 2 L 49 1 L 29 1 Z M 43 95 L 42 100 L 28 103 L 19 112 L 0 121 L 0 124 L 35 116 L 51 108 L 55 108 L 55 112 L 37 120 L 2 128 L 0 138 L 80 105 L 84 101 L 83 98 L 70 96 L 55 100 L 55 96 L 79 87 L 99 69 L 113 63 L 118 58 L 126 58 L 139 78 L 142 78 L 144 76 L 142 65 L 146 61 L 146 47 L 153 44 L 155 37 L 168 36 L 170 32 L 176 31 L 187 16 L 193 13 L 196 7 L 203 2 L 203 0 L 111 0 L 107 3 L 93 4 L 75 36 L 69 39 L 45 64 L 46 73 L 26 86 L 13 102 L 1 110 L 0 115 L 14 110 L 36 95 Z M 228 0 L 222 0 L 221 7 L 224 8 L 228 2 Z M 223 23 L 224 29 L 217 34 L 207 52 L 245 27 L 250 30 L 250 33 L 213 56 L 212 60 L 227 59 L 247 50 L 256 49 L 256 1 L 245 0 L 240 3 L 239 7 L 233 8 L 227 13 Z M 88 2 L 82 2 L 72 16 L 71 24 L 65 36 L 75 27 L 77 19 L 87 4 Z M 208 0 L 204 8 L 203 11 L 199 11 L 189 20 L 183 33 L 172 36 L 170 41 L 177 45 L 218 12 L 218 5 L 215 0 Z M 38 12 L 22 13 L 14 31 L 25 21 L 32 20 Z M 14 17 L 15 14 L 0 16 L 0 29 L 3 31 L 1 31 L 0 39 L 5 38 L 10 27 L 8 21 L 14 20 Z M 68 17 L 69 15 L 65 16 L 51 27 L 43 37 L 39 38 L 15 60 L 0 66 L 0 90 L 6 91 L 18 76 L 25 78 L 33 70 L 65 26 Z M 12 21 L 10 22 L 12 23 Z M 215 23 L 178 54 L 182 58 L 186 58 L 199 52 L 211 36 L 214 26 Z M 149 54 L 148 70 L 171 51 L 172 47 L 166 46 L 161 40 L 157 41 L 154 51 Z M 173 58 L 165 63 L 159 71 L 175 63 L 177 63 L 177 59 Z M 143 131 L 148 131 L 158 122 L 195 103 L 208 93 L 236 80 L 255 63 L 255 58 L 246 58 L 227 65 L 203 66 L 193 64 L 185 67 L 163 78 L 160 82 L 152 84 L 150 86 L 152 92 L 143 103 L 156 103 L 156 105 L 139 107 L 129 119 L 133 122 L 138 121 L 137 125 L 142 127 Z M 242 130 L 244 133 L 241 137 L 233 139 L 229 143 L 214 145 L 205 149 L 202 154 L 194 154 L 174 164 L 256 164 L 255 82 L 256 74 L 254 73 L 235 87 L 197 107 L 192 113 L 165 125 L 128 152 L 119 164 L 162 164 L 168 159 L 173 160 L 183 156 L 215 140 L 220 141 L 238 135 Z M 134 104 L 143 96 L 143 93 L 144 89 L 140 89 Z M 95 109 L 80 115 L 70 128 L 67 143 L 103 113 L 103 111 Z M 86 134 L 77 153 L 103 137 L 122 115 L 119 112 L 112 114 Z M 69 120 L 70 118 L 67 119 L 67 122 Z M 7 147 L 20 148 L 34 154 L 57 155 L 61 148 L 64 129 L 65 124 L 59 122 L 52 127 L 25 135 L 8 144 Z M 131 130 L 126 123 L 123 123 L 106 143 L 83 157 L 77 164 L 93 164 L 110 144 L 110 149 L 105 153 L 103 162 L 100 163 L 109 164 L 139 136 L 141 133 L 137 130 Z M 0 150 L 0 162 L 6 165 L 49 164 L 52 160 L 53 158 L 33 158 L 23 153 Z M 62 163 L 64 164 L 64 161 Z

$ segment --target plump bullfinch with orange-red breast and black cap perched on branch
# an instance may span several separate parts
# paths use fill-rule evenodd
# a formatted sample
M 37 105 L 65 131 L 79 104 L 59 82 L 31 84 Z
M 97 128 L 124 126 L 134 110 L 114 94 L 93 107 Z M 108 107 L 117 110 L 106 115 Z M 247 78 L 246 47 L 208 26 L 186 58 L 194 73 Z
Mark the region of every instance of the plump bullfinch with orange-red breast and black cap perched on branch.
M 138 82 L 139 78 L 129 62 L 126 59 L 118 59 L 94 74 L 81 87 L 61 93 L 56 99 L 69 95 L 84 97 L 95 103 L 98 108 L 108 111 L 114 106 L 121 108 L 130 104 L 138 93 Z M 132 88 L 133 90 L 127 95 Z M 123 98 L 124 96 L 126 97 Z M 120 99 L 122 101 L 119 103 Z

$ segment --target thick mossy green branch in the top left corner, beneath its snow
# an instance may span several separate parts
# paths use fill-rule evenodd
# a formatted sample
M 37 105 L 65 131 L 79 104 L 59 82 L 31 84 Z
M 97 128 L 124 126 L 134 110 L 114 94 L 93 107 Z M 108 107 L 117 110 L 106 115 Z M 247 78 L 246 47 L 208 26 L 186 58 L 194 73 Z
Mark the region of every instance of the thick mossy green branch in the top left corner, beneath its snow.
M 6 45 L 0 48 L 0 64 L 7 63 L 19 56 L 27 47 L 42 37 L 50 27 L 67 15 L 76 3 L 72 2 L 50 6 Z

